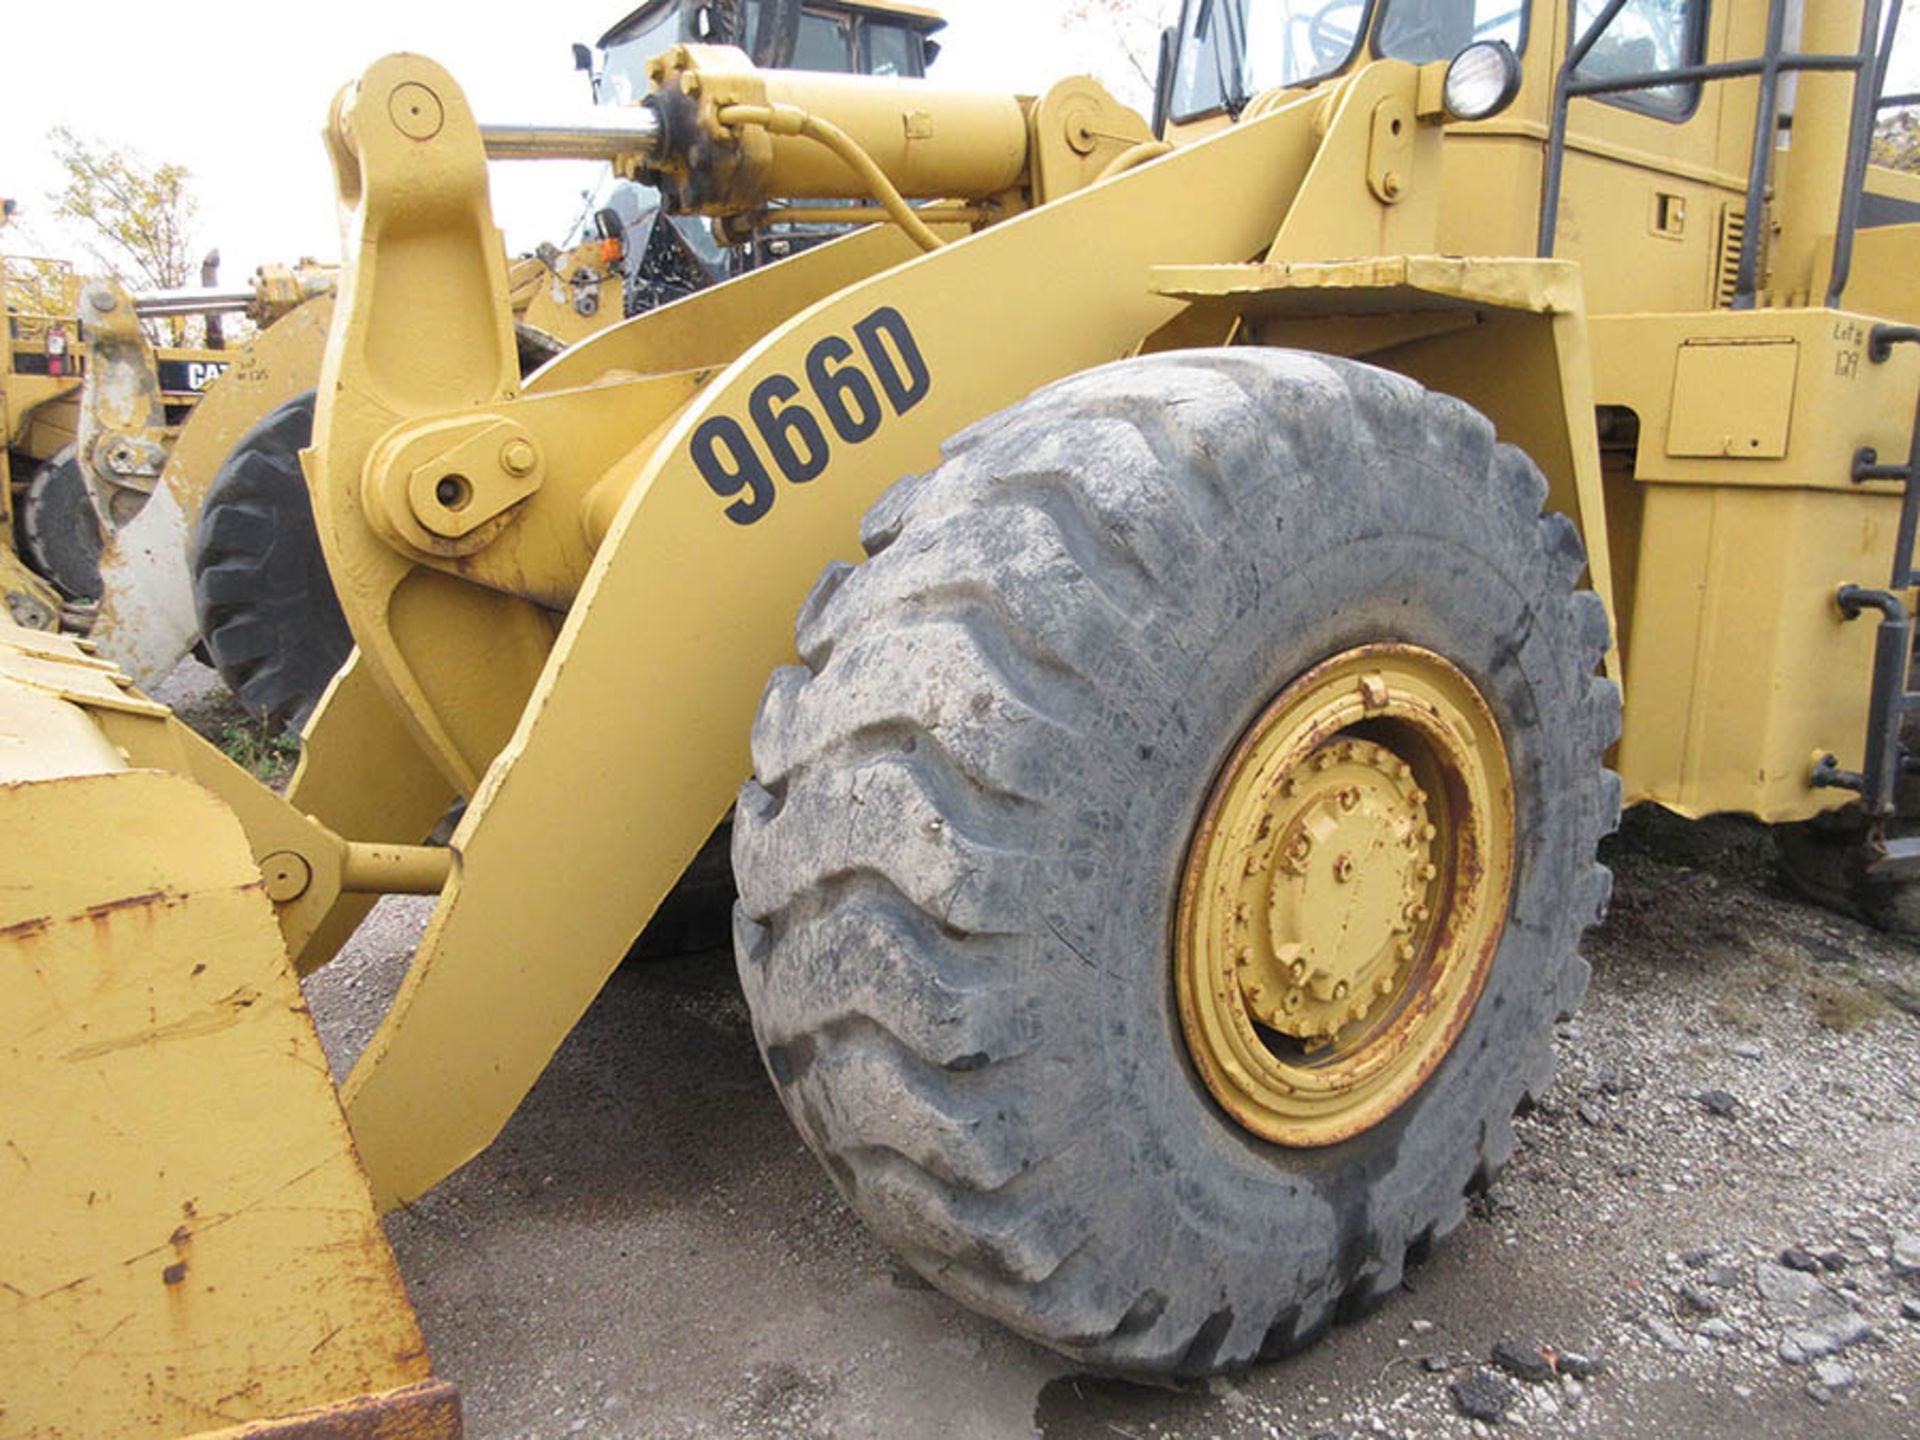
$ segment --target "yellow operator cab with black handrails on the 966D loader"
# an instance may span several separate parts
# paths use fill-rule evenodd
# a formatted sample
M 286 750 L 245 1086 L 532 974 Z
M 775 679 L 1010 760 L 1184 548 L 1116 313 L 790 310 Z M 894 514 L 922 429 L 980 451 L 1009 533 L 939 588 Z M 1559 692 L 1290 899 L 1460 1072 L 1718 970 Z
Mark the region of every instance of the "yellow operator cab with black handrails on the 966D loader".
M 1463 144 L 1444 253 L 1578 259 L 1594 313 L 1837 303 L 1855 236 L 1920 219 L 1920 175 L 1893 165 L 1920 100 L 1889 63 L 1899 17 L 1895 0 L 1183 0 L 1156 132 L 1202 138 L 1373 60 L 1448 63 Z M 1507 67 L 1490 104 L 1455 104 L 1469 58 Z

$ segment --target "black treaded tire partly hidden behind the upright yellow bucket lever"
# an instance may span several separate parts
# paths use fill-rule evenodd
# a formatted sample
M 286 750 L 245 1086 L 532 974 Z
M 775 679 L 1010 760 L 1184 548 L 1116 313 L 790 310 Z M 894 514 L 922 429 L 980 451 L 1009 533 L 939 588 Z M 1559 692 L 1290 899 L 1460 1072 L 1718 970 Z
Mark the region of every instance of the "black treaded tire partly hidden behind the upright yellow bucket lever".
M 194 524 L 194 611 L 213 668 L 250 714 L 296 730 L 353 649 L 300 470 L 311 440 L 309 390 L 240 438 Z

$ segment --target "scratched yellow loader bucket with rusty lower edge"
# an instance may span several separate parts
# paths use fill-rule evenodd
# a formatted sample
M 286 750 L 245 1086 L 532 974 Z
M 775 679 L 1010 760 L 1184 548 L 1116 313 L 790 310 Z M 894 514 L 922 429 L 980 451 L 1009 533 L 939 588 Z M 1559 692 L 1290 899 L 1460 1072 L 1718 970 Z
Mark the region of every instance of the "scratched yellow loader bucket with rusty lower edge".
M 0 626 L 0 1436 L 459 1434 L 246 835 L 113 724 Z

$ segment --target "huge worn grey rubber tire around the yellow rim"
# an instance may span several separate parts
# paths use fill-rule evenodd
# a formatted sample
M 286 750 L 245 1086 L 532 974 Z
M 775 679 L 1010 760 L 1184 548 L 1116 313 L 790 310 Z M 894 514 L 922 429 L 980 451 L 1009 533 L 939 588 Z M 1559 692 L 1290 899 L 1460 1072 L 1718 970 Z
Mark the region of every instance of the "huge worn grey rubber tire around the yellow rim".
M 1382 1298 L 1461 1221 L 1611 889 L 1607 624 L 1544 497 L 1457 401 L 1235 349 L 1041 390 L 876 505 L 755 724 L 735 950 L 781 1102 L 922 1275 L 1081 1363 L 1202 1375 Z M 1377 639 L 1492 705 L 1515 893 L 1413 1098 L 1283 1148 L 1187 1054 L 1181 868 L 1261 707 Z

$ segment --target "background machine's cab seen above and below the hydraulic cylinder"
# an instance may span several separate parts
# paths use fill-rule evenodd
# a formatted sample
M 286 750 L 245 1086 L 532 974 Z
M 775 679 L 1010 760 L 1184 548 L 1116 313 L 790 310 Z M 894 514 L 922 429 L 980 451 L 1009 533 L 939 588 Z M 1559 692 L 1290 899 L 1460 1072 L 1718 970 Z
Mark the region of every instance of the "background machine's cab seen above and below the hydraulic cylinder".
M 918 79 L 939 54 L 933 33 L 945 19 L 925 6 L 895 0 L 649 0 L 574 63 L 599 106 L 634 106 L 647 94 L 647 61 L 676 44 L 732 44 L 760 69 Z M 609 215 L 611 211 L 611 215 Z M 666 217 L 653 186 L 609 177 L 595 194 L 576 244 L 611 227 L 624 230 L 626 313 L 637 315 L 701 286 L 783 259 L 839 234 L 837 225 L 783 225 L 743 246 L 722 246 L 699 217 Z

